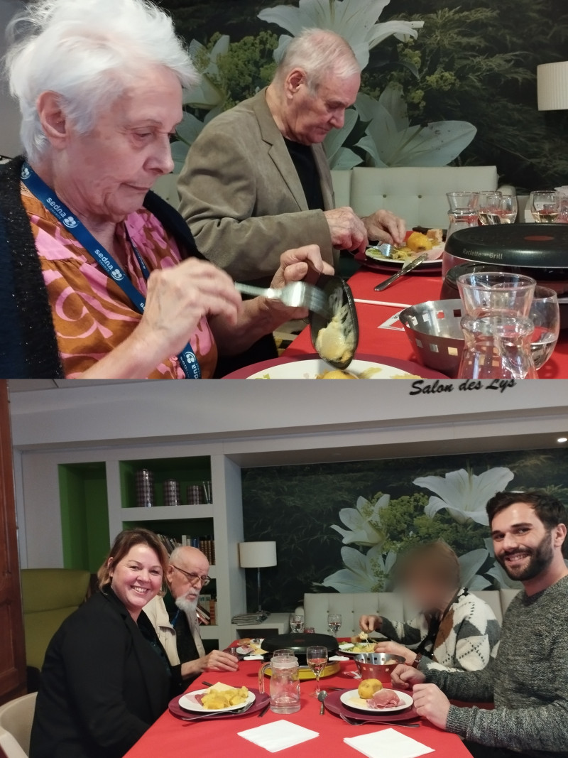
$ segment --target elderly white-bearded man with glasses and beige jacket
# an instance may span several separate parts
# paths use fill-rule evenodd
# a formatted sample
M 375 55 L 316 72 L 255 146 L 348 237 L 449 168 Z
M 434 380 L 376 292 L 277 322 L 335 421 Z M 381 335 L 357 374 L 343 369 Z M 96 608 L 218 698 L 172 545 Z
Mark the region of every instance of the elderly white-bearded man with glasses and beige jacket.
M 183 688 L 205 671 L 236 671 L 239 662 L 223 650 L 205 653 L 197 620 L 201 588 L 209 584 L 209 561 L 196 547 L 176 547 L 164 575 L 167 593 L 154 597 L 144 608 L 170 665 L 183 680 Z

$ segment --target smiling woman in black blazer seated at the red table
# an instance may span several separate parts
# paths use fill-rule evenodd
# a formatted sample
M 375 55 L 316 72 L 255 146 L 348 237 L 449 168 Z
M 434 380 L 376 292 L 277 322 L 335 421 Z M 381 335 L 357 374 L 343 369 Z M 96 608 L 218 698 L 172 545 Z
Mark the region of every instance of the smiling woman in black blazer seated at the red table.
M 98 571 L 100 591 L 49 644 L 30 758 L 121 756 L 164 711 L 173 679 L 141 611 L 160 592 L 166 567 L 151 531 L 123 531 L 114 540 Z

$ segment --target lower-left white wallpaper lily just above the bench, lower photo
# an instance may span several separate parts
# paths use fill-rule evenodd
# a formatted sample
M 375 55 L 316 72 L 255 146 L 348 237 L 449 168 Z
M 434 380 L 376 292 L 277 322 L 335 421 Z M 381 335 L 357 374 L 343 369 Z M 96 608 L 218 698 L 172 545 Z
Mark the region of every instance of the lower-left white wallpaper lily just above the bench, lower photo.
M 392 590 L 390 573 L 397 554 L 390 551 L 383 556 L 379 545 L 367 553 L 354 547 L 342 547 L 345 568 L 330 574 L 322 581 L 323 587 L 333 587 L 338 592 L 388 592 Z

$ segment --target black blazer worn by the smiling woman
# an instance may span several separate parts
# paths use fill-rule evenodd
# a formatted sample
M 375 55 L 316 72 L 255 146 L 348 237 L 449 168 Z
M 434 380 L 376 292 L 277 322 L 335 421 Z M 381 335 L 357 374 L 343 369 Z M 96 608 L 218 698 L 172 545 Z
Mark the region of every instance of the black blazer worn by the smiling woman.
M 120 758 L 167 707 L 167 659 L 105 592 L 71 614 L 49 644 L 30 758 Z M 151 630 L 144 613 L 139 625 Z

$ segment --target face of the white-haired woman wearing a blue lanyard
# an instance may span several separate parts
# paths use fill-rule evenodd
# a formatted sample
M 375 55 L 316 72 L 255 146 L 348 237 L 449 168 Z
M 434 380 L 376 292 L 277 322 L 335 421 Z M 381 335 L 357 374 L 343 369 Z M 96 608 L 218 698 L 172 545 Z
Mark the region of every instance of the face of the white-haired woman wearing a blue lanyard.
M 137 77 L 87 134 L 69 127 L 58 155 L 58 186 L 81 216 L 122 221 L 148 189 L 173 171 L 170 134 L 182 118 L 179 80 L 165 67 Z

